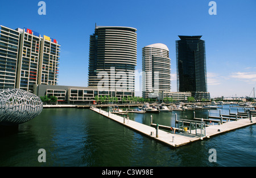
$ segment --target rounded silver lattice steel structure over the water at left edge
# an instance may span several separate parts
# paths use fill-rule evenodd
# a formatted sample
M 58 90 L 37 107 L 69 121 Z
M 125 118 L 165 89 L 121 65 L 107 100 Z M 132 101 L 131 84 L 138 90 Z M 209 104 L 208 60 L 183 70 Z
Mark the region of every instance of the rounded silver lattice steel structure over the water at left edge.
M 38 116 L 43 109 L 40 98 L 20 89 L 0 90 L 0 125 L 18 125 Z

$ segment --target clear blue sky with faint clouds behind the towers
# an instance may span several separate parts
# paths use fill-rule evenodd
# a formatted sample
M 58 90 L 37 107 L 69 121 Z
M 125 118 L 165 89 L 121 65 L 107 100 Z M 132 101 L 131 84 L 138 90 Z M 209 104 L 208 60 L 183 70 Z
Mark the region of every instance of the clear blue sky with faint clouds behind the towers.
M 217 15 L 209 15 L 209 0 L 50 0 L 44 1 L 46 15 L 38 14 L 38 2 L 2 1 L 0 24 L 30 28 L 61 44 L 59 85 L 87 86 L 89 36 L 97 23 L 137 28 L 137 70 L 142 69 L 144 46 L 166 44 L 170 50 L 172 91 L 177 91 L 178 35 L 202 35 L 205 40 L 208 91 L 212 97 L 249 96 L 256 87 L 255 0 L 215 1 Z M 138 81 L 136 87 L 138 91 Z

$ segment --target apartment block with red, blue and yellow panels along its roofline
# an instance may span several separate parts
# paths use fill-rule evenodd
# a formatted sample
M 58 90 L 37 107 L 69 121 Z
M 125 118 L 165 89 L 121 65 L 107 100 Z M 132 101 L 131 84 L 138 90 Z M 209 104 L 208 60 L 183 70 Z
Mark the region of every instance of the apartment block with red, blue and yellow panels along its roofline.
M 35 84 L 56 85 L 60 45 L 28 28 L 1 26 L 0 88 L 33 92 Z

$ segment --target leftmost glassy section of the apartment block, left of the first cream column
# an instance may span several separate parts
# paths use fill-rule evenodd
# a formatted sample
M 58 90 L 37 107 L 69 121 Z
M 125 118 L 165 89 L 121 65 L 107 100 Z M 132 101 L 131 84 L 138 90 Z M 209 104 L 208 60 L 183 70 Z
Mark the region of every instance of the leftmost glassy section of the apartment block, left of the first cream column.
M 0 89 L 15 88 L 18 63 L 19 32 L 1 26 L 0 31 Z

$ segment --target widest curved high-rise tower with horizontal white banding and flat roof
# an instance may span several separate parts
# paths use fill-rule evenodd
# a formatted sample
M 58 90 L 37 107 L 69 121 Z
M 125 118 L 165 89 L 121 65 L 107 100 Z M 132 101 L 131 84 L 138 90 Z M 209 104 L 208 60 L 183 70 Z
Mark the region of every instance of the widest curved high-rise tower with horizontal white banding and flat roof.
M 109 90 L 135 90 L 136 31 L 131 27 L 96 26 L 90 35 L 89 87 L 97 87 L 105 80 Z M 102 79 L 101 72 L 108 74 L 108 78 Z

